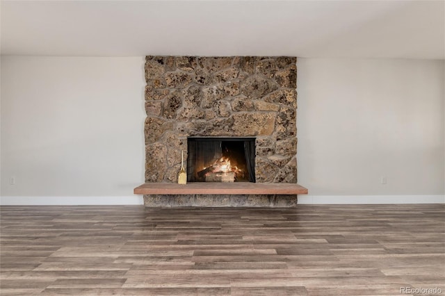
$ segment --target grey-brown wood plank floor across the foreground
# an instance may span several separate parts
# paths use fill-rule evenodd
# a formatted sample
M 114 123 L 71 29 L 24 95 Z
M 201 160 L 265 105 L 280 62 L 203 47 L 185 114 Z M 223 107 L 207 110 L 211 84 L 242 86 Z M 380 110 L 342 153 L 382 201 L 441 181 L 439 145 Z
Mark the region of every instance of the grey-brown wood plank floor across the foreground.
M 443 204 L 0 211 L 1 295 L 445 294 Z

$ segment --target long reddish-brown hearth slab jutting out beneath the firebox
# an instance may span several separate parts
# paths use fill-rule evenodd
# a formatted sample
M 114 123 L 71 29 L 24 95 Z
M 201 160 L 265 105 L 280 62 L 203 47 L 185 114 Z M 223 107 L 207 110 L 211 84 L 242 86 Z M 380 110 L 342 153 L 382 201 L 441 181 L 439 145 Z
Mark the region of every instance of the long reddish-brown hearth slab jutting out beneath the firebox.
M 307 195 L 307 188 L 295 183 L 144 183 L 135 195 Z

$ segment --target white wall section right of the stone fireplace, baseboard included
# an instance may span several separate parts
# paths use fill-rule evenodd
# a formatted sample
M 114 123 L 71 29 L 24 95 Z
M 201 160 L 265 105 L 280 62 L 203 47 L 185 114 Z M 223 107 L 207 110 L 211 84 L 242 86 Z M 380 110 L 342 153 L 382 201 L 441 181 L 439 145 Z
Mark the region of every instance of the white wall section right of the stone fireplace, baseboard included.
M 301 202 L 444 202 L 443 60 L 297 66 Z

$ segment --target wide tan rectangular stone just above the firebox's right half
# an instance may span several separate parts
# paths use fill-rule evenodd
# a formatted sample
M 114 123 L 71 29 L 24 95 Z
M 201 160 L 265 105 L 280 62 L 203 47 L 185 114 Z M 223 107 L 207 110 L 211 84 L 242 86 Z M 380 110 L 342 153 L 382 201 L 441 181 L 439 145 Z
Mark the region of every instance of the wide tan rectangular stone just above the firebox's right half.
M 271 135 L 275 127 L 275 113 L 236 113 L 233 131 L 239 136 Z

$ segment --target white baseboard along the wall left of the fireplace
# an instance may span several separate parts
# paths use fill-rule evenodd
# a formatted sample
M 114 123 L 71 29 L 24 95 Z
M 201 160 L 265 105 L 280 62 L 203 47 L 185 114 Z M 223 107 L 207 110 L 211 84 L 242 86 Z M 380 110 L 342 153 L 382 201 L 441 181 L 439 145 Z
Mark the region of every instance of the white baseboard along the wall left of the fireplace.
M 0 206 L 143 205 L 142 195 L 126 197 L 0 197 Z

